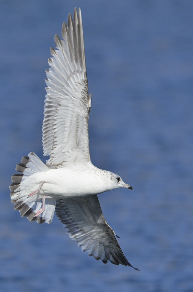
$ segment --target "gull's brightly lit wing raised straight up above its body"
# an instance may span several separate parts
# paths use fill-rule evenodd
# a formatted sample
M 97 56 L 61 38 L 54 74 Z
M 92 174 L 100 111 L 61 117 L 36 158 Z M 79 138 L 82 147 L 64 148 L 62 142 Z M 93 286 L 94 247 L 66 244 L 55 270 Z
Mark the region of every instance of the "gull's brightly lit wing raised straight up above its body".
M 85 63 L 83 25 L 74 10 L 74 20 L 68 17 L 68 26 L 62 25 L 63 40 L 55 35 L 56 49 L 46 70 L 46 98 L 43 119 L 43 152 L 49 155 L 47 164 L 61 167 L 65 164 L 90 161 L 88 117 L 91 95 Z

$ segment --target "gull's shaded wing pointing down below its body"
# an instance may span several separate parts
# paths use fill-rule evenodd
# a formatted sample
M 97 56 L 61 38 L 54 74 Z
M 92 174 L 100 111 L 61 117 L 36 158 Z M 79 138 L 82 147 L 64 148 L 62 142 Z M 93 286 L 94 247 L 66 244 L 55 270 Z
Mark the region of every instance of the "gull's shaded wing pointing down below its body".
M 57 200 L 56 215 L 82 251 L 103 263 L 132 265 L 125 258 L 113 229 L 106 223 L 97 195 Z M 134 268 L 139 270 L 137 268 Z

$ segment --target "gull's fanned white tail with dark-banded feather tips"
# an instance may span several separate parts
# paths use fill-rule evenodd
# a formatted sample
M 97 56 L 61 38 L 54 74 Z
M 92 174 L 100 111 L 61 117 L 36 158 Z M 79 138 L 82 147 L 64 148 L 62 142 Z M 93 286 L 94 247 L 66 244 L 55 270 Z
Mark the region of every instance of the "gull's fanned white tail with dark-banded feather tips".
M 18 210 L 22 217 L 39 224 L 51 223 L 55 211 L 56 200 L 45 199 L 45 210 L 42 214 L 35 216 L 35 213 L 41 209 L 42 199 L 34 195 L 27 197 L 34 190 L 33 175 L 38 172 L 48 171 L 49 168 L 39 159 L 39 157 L 30 152 L 28 156 L 22 157 L 21 163 L 16 165 L 16 173 L 12 175 L 12 184 L 10 185 L 10 197 L 14 204 L 14 209 Z

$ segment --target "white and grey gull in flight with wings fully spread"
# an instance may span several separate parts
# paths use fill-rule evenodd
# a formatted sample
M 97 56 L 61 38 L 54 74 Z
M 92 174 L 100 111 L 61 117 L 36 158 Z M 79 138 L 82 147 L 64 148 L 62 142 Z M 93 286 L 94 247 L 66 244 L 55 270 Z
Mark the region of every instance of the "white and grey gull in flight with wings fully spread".
M 44 164 L 34 152 L 22 157 L 12 175 L 10 197 L 22 217 L 51 223 L 54 212 L 67 234 L 96 260 L 133 267 L 124 256 L 115 232 L 106 222 L 97 194 L 125 187 L 119 175 L 90 160 L 88 118 L 91 93 L 85 62 L 81 11 L 74 9 L 55 35 L 46 70 L 43 119 Z M 118 237 L 118 236 L 117 236 Z M 134 267 L 133 267 L 134 268 Z M 134 268 L 135 270 L 139 270 Z

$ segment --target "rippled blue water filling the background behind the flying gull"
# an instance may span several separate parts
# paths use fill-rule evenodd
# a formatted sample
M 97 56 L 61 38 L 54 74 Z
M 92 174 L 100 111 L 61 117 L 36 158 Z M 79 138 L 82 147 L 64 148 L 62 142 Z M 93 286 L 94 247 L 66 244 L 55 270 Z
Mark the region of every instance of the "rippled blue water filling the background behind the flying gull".
M 1 1 L 1 291 L 193 291 L 193 2 Z M 81 7 L 94 165 L 133 191 L 100 194 L 129 262 L 104 265 L 62 224 L 13 210 L 15 164 L 43 161 L 45 69 L 62 22 Z

